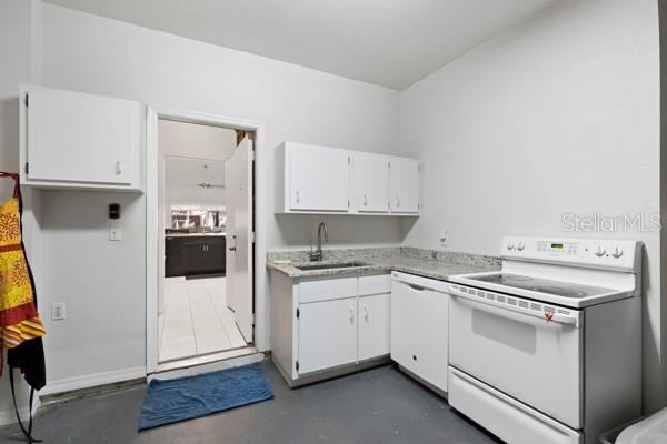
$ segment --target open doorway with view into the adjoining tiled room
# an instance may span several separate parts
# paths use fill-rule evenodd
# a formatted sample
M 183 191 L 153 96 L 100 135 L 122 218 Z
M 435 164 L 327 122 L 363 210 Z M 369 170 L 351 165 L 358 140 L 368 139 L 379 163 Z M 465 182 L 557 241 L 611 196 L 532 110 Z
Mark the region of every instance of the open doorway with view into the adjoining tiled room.
M 255 353 L 256 131 L 156 113 L 150 133 L 158 260 L 147 371 Z

